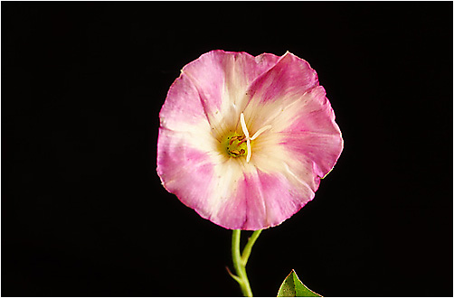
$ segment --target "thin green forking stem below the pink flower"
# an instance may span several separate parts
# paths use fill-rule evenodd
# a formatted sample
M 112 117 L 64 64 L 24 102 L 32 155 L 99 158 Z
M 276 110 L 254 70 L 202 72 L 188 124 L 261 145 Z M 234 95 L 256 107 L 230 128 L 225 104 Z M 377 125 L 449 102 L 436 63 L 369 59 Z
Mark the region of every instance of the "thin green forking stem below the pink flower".
M 246 264 L 255 241 L 260 236 L 260 230 L 254 231 L 244 247 L 242 255 L 240 253 L 241 229 L 234 229 L 232 233 L 232 260 L 237 275 L 232 275 L 234 280 L 240 284 L 241 292 L 245 297 L 252 297 L 251 285 L 249 284 L 248 275 L 246 274 Z

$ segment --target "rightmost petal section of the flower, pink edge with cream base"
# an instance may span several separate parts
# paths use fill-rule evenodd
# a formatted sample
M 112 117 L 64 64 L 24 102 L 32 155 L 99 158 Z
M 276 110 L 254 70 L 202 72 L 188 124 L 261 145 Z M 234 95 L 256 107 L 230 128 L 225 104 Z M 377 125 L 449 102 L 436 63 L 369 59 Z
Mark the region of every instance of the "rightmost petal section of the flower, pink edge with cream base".
M 306 184 L 315 192 L 344 146 L 325 89 L 312 88 L 276 114 L 280 104 L 262 105 L 260 116 L 268 115 L 272 128 L 255 141 L 251 163 L 263 172 L 283 172 L 294 185 Z

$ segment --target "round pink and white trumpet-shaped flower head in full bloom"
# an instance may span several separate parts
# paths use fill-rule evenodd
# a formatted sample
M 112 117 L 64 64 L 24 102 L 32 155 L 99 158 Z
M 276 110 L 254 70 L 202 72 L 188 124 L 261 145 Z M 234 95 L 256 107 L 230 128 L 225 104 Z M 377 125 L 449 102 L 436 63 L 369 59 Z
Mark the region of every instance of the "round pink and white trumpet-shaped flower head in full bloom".
M 204 53 L 181 70 L 159 116 L 161 182 L 223 228 L 290 218 L 344 146 L 316 71 L 290 52 Z

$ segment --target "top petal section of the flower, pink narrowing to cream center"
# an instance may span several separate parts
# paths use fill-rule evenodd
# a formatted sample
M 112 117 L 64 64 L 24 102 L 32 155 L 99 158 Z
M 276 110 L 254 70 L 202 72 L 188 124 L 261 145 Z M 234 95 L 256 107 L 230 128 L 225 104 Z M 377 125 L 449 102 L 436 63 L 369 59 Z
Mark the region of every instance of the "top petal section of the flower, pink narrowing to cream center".
M 251 82 L 278 60 L 268 53 L 253 57 L 246 52 L 209 51 L 184 66 L 182 75 L 197 89 L 213 130 L 222 133 L 238 124 Z

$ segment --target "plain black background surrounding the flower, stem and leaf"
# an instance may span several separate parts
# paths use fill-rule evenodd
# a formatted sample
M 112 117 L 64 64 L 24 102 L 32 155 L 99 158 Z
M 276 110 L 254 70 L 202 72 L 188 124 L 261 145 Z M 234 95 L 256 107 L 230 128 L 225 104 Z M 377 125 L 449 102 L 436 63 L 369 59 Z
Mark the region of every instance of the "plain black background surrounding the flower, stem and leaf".
M 254 293 L 294 268 L 325 296 L 452 296 L 452 3 L 1 6 L 3 296 L 241 294 L 231 231 L 156 175 L 167 89 L 214 49 L 307 60 L 345 139 L 260 236 Z

